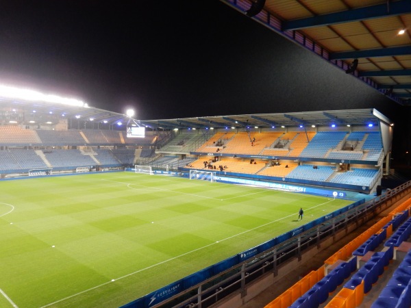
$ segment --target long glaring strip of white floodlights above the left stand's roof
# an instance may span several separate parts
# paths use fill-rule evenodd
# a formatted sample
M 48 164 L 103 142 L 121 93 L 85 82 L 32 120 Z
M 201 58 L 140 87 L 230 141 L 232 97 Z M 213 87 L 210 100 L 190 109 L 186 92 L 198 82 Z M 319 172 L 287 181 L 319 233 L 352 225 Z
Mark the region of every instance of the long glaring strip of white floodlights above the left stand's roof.
M 84 102 L 78 99 L 68 99 L 54 94 L 44 94 L 34 90 L 14 88 L 0 85 L 0 97 L 4 99 L 21 99 L 23 101 L 41 101 L 44 103 L 58 103 L 84 107 Z

